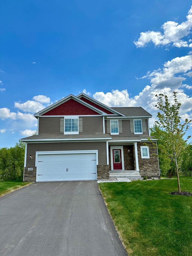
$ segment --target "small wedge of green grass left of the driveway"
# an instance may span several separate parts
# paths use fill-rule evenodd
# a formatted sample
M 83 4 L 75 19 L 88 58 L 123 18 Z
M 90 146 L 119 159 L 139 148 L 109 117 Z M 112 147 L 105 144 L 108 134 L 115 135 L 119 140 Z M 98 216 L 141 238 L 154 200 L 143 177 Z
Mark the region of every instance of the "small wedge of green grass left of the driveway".
M 16 181 L 16 180 L 1 181 L 0 182 L 0 197 L 2 197 L 5 194 L 8 194 L 14 190 L 17 190 L 19 188 L 27 186 L 31 183 L 32 182 L 22 182 L 22 181 Z

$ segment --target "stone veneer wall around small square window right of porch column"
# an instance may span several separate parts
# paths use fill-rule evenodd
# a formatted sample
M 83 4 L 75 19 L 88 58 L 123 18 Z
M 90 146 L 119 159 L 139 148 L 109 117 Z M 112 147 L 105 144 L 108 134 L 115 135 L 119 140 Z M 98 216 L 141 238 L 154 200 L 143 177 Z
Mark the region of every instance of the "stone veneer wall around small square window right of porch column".
M 138 151 L 138 161 L 139 161 L 139 171 L 141 176 L 152 176 L 159 177 L 159 163 L 157 155 L 157 148 L 153 147 L 151 142 L 147 143 L 149 146 L 149 156 L 150 158 L 141 158 L 141 148 L 140 146 L 145 146 L 144 143 L 137 143 Z

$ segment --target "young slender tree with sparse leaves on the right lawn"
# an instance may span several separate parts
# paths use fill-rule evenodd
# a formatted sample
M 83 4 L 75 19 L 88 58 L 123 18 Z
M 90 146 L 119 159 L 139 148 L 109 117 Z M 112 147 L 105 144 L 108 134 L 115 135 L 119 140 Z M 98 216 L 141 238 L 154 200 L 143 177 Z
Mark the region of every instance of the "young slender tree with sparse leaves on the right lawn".
M 155 122 L 159 127 L 163 128 L 163 130 L 166 131 L 165 141 L 167 144 L 167 148 L 162 147 L 161 150 L 164 150 L 164 152 L 175 162 L 178 189 L 180 193 L 181 188 L 179 182 L 177 159 L 184 151 L 187 140 L 191 137 L 188 136 L 186 140 L 183 139 L 183 136 L 185 135 L 189 127 L 188 124 L 192 120 L 185 119 L 185 122 L 181 123 L 181 117 L 179 116 L 179 109 L 181 107 L 181 103 L 178 102 L 176 94 L 177 92 L 173 92 L 174 104 L 172 106 L 170 106 L 167 95 L 164 95 L 162 93 L 159 95 L 155 95 L 158 100 L 155 107 L 161 110 L 161 112 L 158 112 L 157 114 L 159 120 Z

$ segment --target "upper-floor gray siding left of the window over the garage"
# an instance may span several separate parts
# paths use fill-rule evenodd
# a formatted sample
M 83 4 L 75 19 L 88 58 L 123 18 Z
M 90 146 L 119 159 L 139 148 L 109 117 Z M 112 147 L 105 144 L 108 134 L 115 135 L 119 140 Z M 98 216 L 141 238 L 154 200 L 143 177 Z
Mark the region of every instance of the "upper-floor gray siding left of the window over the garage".
M 60 117 L 40 117 L 39 134 L 60 134 Z

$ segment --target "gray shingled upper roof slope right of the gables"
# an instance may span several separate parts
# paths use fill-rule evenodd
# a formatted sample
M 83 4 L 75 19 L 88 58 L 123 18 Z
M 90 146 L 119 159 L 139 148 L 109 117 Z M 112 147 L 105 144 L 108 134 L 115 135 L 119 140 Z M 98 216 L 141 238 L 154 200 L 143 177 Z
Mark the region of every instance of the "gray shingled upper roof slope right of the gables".
M 124 114 L 125 116 L 149 116 L 152 117 L 149 112 L 143 109 L 143 107 L 112 107 L 114 110 L 119 113 Z

